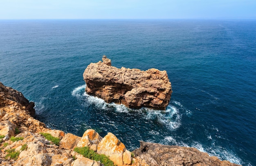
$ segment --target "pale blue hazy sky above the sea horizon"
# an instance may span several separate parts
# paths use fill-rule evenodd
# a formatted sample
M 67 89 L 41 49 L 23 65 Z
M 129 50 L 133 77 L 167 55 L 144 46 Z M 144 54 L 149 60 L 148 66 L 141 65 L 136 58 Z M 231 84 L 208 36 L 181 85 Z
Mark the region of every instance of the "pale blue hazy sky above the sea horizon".
M 256 0 L 0 0 L 0 19 L 256 19 Z

